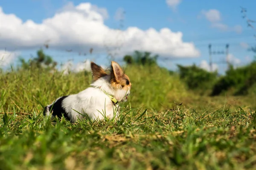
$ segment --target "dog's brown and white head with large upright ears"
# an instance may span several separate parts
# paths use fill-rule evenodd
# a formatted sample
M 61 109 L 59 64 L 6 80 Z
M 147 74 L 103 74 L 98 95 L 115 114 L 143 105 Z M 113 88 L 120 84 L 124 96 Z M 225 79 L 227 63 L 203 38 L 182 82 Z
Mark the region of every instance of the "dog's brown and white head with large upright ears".
M 101 66 L 96 65 L 94 62 L 91 62 L 91 70 L 93 82 L 99 81 L 101 83 L 107 83 L 107 85 L 103 86 L 111 88 L 114 97 L 118 101 L 127 100 L 127 96 L 130 94 L 131 90 L 131 82 L 117 62 L 111 62 L 110 73 L 107 73 Z

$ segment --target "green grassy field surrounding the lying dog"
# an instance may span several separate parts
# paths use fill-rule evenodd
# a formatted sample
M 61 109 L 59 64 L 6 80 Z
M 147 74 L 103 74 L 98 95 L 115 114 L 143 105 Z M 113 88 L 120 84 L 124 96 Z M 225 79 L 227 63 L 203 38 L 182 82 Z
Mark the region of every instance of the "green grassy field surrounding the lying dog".
M 199 96 L 160 68 L 126 68 L 119 121 L 45 119 L 42 105 L 91 74 L 0 73 L 1 170 L 256 169 L 256 96 Z

